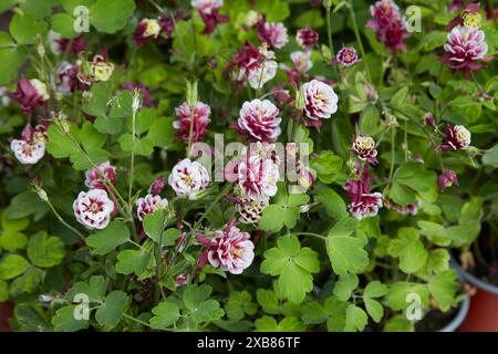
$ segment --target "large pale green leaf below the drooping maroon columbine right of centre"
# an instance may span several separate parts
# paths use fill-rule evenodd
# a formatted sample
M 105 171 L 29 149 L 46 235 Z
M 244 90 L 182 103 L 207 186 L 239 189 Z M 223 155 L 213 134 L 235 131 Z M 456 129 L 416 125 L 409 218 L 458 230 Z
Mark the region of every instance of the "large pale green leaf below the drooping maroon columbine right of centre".
M 356 220 L 346 217 L 338 221 L 326 237 L 326 253 L 339 275 L 359 273 L 369 264 L 369 253 L 363 248 L 365 241 L 352 236 L 355 228 Z

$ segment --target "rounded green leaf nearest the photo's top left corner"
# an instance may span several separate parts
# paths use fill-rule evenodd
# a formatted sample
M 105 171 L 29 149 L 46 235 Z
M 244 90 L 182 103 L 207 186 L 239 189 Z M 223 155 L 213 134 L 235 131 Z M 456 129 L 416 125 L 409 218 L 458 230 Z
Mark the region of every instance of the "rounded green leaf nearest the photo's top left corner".
M 31 14 L 15 13 L 10 21 L 9 30 L 19 44 L 35 44 L 39 39 L 45 37 L 48 24 L 38 21 Z

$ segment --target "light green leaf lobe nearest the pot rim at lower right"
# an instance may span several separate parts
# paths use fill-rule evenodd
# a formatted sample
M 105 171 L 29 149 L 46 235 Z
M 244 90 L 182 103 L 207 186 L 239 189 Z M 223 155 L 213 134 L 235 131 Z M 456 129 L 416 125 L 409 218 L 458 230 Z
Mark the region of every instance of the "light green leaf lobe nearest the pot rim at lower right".
M 434 275 L 428 282 L 428 290 L 436 300 L 442 311 L 448 311 L 449 308 L 456 306 L 458 303 L 457 291 L 460 283 L 457 279 L 455 270 L 447 270 Z

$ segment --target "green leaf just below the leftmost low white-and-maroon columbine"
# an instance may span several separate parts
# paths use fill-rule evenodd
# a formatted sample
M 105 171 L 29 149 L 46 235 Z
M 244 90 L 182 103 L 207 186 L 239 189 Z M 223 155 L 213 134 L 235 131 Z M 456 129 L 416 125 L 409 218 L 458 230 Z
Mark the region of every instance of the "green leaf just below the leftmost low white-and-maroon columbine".
M 122 221 L 112 221 L 105 229 L 98 230 L 86 239 L 86 244 L 95 254 L 107 254 L 129 240 L 129 230 Z

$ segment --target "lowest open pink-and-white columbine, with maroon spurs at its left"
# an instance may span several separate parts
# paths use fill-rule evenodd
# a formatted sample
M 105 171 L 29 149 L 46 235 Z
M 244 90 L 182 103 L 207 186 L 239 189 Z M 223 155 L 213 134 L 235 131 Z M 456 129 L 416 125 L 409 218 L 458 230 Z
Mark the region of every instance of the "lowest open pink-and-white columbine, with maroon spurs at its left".
M 236 219 L 232 219 L 224 230 L 216 231 L 212 239 L 204 236 L 198 236 L 197 239 L 207 246 L 198 266 L 204 266 L 207 258 L 212 267 L 240 274 L 255 259 L 255 244 L 249 233 L 241 232 L 236 227 Z

